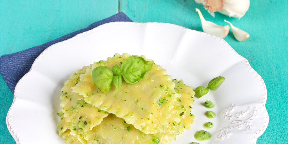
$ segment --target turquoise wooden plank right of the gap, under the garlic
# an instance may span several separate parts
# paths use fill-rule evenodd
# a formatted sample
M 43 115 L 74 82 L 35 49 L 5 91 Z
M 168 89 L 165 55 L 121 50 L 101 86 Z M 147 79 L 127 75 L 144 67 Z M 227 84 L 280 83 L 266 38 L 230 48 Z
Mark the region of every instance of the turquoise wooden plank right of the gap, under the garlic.
M 202 31 L 195 8 L 204 18 L 219 25 L 234 26 L 247 31 L 250 38 L 238 42 L 230 33 L 225 40 L 262 76 L 268 90 L 266 108 L 270 123 L 257 144 L 288 141 L 288 3 L 285 0 L 250 1 L 250 8 L 240 20 L 215 13 L 215 18 L 194 0 L 121 0 L 121 11 L 135 22 L 168 22 Z M 271 136 L 273 136 L 271 138 Z

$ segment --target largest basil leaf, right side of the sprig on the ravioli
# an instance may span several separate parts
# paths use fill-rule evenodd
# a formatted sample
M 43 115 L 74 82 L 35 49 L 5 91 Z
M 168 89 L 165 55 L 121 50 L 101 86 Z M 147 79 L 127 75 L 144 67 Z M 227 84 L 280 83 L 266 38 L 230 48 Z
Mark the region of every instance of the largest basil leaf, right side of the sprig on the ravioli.
M 154 61 L 146 61 L 144 58 L 129 56 L 121 65 L 122 76 L 128 84 L 133 84 L 143 79 L 147 71 L 150 71 Z

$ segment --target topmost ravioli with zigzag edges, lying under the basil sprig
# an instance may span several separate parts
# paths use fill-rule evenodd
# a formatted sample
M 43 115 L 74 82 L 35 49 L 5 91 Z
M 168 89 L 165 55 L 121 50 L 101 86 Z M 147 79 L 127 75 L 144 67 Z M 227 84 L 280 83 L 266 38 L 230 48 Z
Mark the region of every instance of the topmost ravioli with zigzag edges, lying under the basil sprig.
M 167 71 L 161 66 L 154 64 L 139 82 L 123 82 L 119 90 L 112 86 L 107 93 L 98 90 L 92 80 L 94 68 L 101 65 L 110 68 L 115 64 L 121 66 L 129 56 L 115 54 L 114 57 L 107 58 L 107 61 L 94 63 L 91 69 L 86 69 L 86 73 L 80 75 L 80 82 L 72 87 L 72 92 L 84 96 L 85 102 L 94 107 L 123 118 L 145 134 L 163 132 L 178 94 L 174 90 L 175 83 L 172 82 L 172 77 L 167 75 Z

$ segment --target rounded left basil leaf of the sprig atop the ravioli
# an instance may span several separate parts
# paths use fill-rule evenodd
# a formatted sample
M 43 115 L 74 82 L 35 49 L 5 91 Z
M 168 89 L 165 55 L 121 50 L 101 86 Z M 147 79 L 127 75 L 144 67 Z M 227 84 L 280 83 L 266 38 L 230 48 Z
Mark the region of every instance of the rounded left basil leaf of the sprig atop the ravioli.
M 93 69 L 92 79 L 98 89 L 106 93 L 112 86 L 113 73 L 109 67 L 99 66 Z

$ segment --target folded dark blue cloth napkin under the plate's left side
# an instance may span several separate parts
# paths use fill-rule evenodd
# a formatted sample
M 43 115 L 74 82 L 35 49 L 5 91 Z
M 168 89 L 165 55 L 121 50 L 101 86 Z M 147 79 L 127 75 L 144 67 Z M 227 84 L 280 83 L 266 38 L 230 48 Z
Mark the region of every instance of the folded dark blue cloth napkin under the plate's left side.
M 79 33 L 93 29 L 101 24 L 117 21 L 132 22 L 132 20 L 130 20 L 130 18 L 128 18 L 123 12 L 120 12 L 109 18 L 95 22 L 85 29 L 75 31 L 63 37 L 59 37 L 58 39 L 54 39 L 48 43 L 44 43 L 43 45 L 29 48 L 21 52 L 16 52 L 14 54 L 3 55 L 0 57 L 0 73 L 10 90 L 14 92 L 14 88 L 17 82 L 30 70 L 32 63 L 37 58 L 37 56 L 43 52 L 43 50 L 54 43 L 70 39 Z

